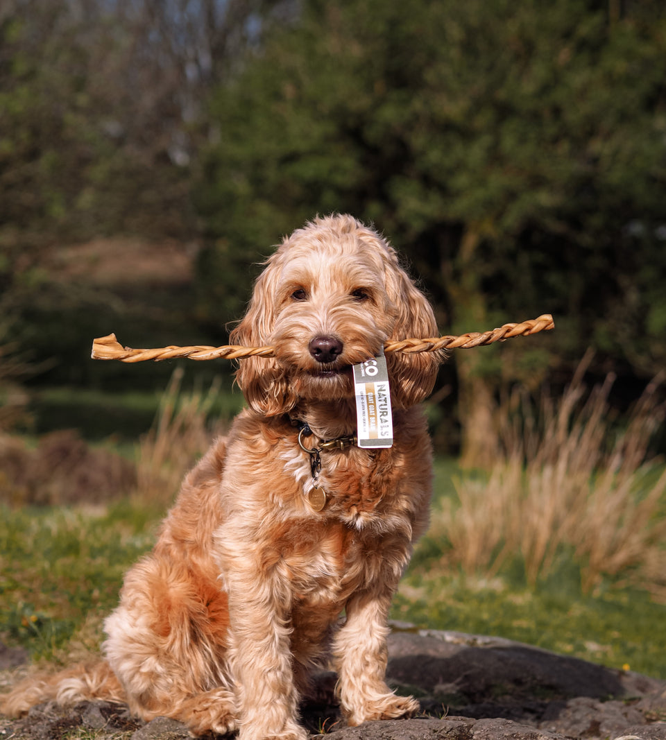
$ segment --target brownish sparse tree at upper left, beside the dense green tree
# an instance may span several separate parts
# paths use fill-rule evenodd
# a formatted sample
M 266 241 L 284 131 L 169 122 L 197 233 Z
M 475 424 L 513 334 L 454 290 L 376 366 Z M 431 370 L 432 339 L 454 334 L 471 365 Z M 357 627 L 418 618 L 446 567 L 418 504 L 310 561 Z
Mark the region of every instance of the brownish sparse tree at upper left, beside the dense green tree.
M 10 336 L 27 339 L 26 314 L 62 309 L 63 289 L 48 274 L 61 246 L 139 235 L 185 250 L 195 240 L 189 193 L 208 135 L 203 101 L 276 5 L 1 3 L 0 315 L 12 319 Z M 88 312 L 103 302 L 76 297 Z

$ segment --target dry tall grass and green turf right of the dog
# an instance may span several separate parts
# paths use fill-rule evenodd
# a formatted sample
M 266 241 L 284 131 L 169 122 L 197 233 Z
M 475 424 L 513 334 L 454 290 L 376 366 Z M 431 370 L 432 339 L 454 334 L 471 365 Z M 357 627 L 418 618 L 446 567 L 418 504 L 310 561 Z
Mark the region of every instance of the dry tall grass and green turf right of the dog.
M 666 678 L 666 468 L 650 456 L 664 408 L 653 383 L 611 425 L 609 388 L 574 378 L 539 416 L 514 397 L 488 470 L 437 461 L 394 618 Z

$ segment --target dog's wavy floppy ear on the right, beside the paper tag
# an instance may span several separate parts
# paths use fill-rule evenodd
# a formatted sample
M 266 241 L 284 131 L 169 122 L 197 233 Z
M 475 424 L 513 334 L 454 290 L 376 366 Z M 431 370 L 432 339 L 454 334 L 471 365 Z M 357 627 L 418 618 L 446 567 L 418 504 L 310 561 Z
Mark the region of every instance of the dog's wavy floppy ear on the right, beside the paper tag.
M 437 323 L 430 303 L 397 264 L 386 275 L 388 297 L 397 309 L 391 340 L 437 337 Z M 395 408 L 408 408 L 425 400 L 445 359 L 444 351 L 387 352 L 391 400 Z

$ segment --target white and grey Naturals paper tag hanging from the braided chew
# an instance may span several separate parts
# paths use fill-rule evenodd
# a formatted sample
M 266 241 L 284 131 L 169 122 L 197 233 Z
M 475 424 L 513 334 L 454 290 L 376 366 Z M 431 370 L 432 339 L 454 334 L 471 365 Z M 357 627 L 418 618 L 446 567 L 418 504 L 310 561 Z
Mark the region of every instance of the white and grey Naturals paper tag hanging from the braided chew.
M 391 447 L 393 417 L 384 353 L 354 365 L 359 447 Z

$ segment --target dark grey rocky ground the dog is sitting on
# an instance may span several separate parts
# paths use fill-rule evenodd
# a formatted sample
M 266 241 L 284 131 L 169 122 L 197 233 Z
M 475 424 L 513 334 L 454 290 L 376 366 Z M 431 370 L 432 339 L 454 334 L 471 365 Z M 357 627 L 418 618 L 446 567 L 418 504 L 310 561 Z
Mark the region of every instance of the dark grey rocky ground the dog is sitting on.
M 434 630 L 394 630 L 389 682 L 418 696 L 415 719 L 345 727 L 332 701 L 334 675 L 322 673 L 317 701 L 302 707 L 313 735 L 331 740 L 666 740 L 666 681 L 610 670 L 509 640 Z M 16 670 L 20 651 L 0 650 Z M 5 674 L 7 675 L 7 673 Z M 81 702 L 34 707 L 0 718 L 0 740 L 180 740 L 184 725 L 145 724 L 127 707 Z

